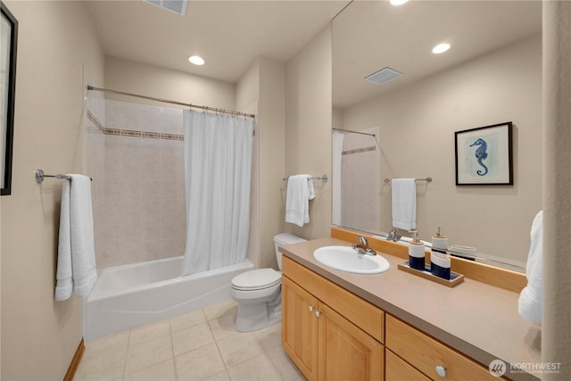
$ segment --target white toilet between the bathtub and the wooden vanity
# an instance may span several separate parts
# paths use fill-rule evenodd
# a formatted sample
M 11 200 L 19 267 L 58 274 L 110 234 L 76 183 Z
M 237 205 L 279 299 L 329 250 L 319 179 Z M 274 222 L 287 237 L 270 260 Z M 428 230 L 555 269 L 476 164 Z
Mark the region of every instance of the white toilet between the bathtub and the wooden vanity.
M 282 269 L 282 253 L 277 248 L 305 239 L 282 233 L 274 236 L 277 266 Z M 238 303 L 237 331 L 255 331 L 282 319 L 282 273 L 275 269 L 253 269 L 232 279 L 230 295 Z

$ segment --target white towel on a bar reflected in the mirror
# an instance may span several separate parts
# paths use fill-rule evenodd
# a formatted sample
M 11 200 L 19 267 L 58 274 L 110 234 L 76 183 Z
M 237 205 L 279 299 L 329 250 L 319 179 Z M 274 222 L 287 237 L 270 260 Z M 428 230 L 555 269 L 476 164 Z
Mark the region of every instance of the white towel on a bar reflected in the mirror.
M 393 178 L 393 228 L 417 228 L 417 184 L 414 178 Z

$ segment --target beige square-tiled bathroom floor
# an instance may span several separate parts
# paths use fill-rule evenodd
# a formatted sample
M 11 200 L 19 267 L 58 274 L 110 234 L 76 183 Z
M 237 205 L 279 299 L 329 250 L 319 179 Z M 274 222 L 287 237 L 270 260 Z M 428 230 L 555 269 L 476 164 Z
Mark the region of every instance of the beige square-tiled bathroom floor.
M 74 380 L 304 380 L 281 325 L 237 332 L 236 310 L 226 302 L 88 342 Z

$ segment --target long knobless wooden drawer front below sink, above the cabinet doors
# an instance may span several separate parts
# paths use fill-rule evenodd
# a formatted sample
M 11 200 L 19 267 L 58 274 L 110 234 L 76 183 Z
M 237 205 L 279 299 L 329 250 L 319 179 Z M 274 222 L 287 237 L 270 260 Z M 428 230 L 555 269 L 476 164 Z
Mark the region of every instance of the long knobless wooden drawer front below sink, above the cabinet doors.
M 282 271 L 355 326 L 385 343 L 385 311 L 285 256 L 282 257 Z

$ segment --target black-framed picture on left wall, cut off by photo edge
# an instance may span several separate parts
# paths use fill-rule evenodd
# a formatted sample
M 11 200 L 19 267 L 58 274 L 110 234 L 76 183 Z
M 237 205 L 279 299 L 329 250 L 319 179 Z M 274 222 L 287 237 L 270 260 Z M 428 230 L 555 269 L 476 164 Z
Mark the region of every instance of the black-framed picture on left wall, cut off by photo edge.
M 0 49 L 2 56 L 2 92 L 0 130 L 0 195 L 12 194 L 12 147 L 14 136 L 14 99 L 16 91 L 16 53 L 18 47 L 18 21 L 4 3 L 2 10 L 2 41 Z

